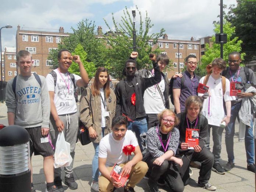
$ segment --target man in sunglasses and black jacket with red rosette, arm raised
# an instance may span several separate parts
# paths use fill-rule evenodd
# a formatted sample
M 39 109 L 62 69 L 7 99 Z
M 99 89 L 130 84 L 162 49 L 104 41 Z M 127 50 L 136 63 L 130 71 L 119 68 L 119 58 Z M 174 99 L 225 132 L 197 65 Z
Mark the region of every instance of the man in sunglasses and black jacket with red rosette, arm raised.
M 137 57 L 137 52 L 132 52 L 131 57 Z M 115 95 L 117 97 L 115 115 L 124 115 L 128 118 L 128 130 L 135 132 L 139 147 L 142 151 L 142 140 L 140 135 L 147 132 L 146 113 L 143 106 L 143 95 L 147 88 L 161 81 L 161 73 L 156 62 L 156 55 L 150 54 L 153 61 L 154 77 L 135 77 L 136 61 L 128 59 L 125 62 L 125 79 L 117 83 Z

